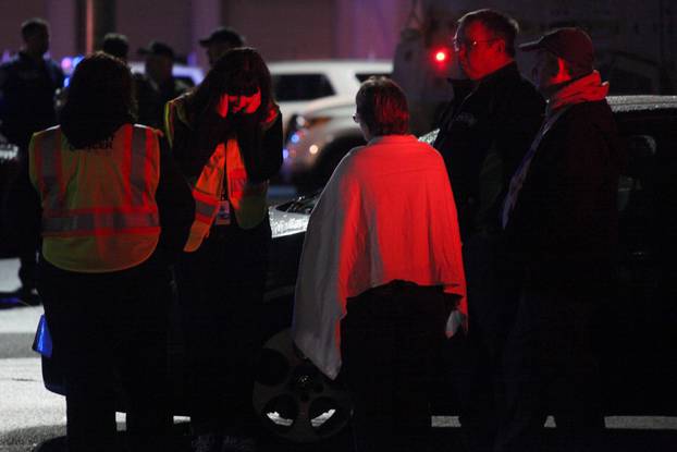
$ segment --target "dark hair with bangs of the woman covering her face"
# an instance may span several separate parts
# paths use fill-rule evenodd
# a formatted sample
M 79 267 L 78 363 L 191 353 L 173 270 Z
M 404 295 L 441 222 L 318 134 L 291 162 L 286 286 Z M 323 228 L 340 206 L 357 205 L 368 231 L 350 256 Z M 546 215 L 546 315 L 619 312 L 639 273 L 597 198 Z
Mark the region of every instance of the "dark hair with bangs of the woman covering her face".
M 230 49 L 188 96 L 188 118 L 198 119 L 213 111 L 223 94 L 253 95 L 257 88 L 261 90 L 261 106 L 254 114 L 259 122 L 263 122 L 273 101 L 270 71 L 255 49 Z

